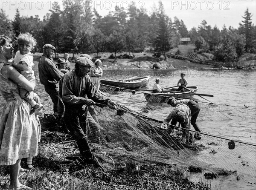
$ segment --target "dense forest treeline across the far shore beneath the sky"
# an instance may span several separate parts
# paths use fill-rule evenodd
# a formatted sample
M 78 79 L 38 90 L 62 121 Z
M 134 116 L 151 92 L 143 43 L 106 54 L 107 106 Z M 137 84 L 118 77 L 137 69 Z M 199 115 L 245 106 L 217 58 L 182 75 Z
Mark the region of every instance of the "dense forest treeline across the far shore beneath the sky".
M 152 7 L 151 14 L 131 2 L 128 9 L 115 7 L 114 12 L 104 17 L 87 6 L 88 1 L 62 3 L 63 10 L 52 5 L 54 10 L 49 10 L 43 20 L 38 15 L 21 17 L 18 9 L 14 20 L 9 20 L 1 10 L 0 33 L 15 37 L 29 32 L 37 40 L 38 52 L 46 43 L 54 45 L 59 53 L 113 52 L 115 56 L 116 52 L 143 52 L 149 47 L 166 58 L 166 53 L 180 44 L 181 37 L 190 37 L 197 53 L 212 53 L 218 61 L 236 61 L 244 53 L 256 52 L 256 26 L 248 9 L 241 15 L 238 29 L 218 29 L 202 20 L 197 28 L 188 31 L 183 20 L 167 16 L 161 1 Z

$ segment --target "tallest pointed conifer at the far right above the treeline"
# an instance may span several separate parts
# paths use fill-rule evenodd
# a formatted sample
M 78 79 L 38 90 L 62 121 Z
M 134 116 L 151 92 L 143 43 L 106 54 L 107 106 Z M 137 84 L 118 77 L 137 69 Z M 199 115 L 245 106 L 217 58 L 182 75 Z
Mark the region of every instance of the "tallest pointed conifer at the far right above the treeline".
M 246 40 L 246 45 L 245 45 L 245 51 L 249 53 L 255 52 L 255 48 L 253 47 L 253 39 L 254 34 L 253 34 L 253 26 L 252 26 L 252 17 L 253 15 L 249 13 L 248 8 L 244 12 L 244 20 L 242 20 L 242 23 L 239 23 L 240 28 L 240 34 L 245 35 L 245 40 Z

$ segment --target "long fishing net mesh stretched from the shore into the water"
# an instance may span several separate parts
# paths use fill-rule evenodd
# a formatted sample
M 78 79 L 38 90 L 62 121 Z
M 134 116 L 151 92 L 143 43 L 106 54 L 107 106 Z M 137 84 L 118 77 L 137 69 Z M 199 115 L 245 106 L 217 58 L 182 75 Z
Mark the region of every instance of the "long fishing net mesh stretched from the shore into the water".
M 127 92 L 125 89 L 106 85 L 101 85 L 101 90 L 111 96 Z M 116 110 L 96 104 L 95 110 L 101 127 L 101 146 L 96 156 L 107 170 L 117 166 L 123 167 L 133 161 L 138 164 L 165 163 L 180 167 L 200 167 L 218 173 L 227 170 L 256 176 L 254 144 L 231 141 L 205 133 L 201 133 L 201 140 L 196 140 L 193 138 L 195 131 L 192 130 L 189 131 L 191 143 L 185 144 L 181 139 L 184 129 L 176 126 L 172 131 L 161 130 L 163 121 L 149 118 L 121 104 L 117 105 Z M 218 120 L 231 119 L 225 112 L 215 112 Z M 199 120 L 206 117 L 202 115 Z M 216 119 L 216 113 L 208 118 Z M 87 136 L 89 141 L 92 141 L 95 137 L 89 128 L 90 124 L 87 125 Z M 232 144 L 235 144 L 234 149 Z

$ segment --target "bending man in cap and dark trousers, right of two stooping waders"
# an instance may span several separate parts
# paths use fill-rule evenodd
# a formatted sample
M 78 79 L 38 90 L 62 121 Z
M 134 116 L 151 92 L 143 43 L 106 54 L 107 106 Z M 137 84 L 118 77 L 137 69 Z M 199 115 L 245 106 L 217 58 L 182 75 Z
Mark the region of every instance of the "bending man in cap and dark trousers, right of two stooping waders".
M 198 103 L 196 103 L 193 100 L 189 100 L 189 99 L 176 100 L 174 97 L 170 97 L 167 104 L 171 105 L 172 107 L 177 107 L 177 105 L 179 105 L 179 104 L 186 104 L 191 111 L 190 122 L 191 122 L 192 126 L 195 128 L 195 131 L 201 132 L 200 128 L 198 127 L 198 124 L 196 124 L 196 120 L 197 120 L 199 112 L 200 112 L 200 106 L 198 105 Z M 195 135 L 195 138 L 201 139 L 200 133 Z

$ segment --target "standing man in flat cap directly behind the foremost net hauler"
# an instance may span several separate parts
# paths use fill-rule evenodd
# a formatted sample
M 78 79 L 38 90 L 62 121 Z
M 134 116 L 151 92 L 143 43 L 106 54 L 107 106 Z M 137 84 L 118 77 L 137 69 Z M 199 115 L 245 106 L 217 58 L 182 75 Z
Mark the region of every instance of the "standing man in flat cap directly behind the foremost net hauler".
M 38 63 L 40 82 L 44 84 L 44 89 L 49 94 L 53 103 L 53 112 L 58 112 L 58 81 L 64 75 L 53 63 L 52 55 L 55 47 L 51 44 L 43 46 L 43 55 Z

